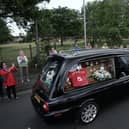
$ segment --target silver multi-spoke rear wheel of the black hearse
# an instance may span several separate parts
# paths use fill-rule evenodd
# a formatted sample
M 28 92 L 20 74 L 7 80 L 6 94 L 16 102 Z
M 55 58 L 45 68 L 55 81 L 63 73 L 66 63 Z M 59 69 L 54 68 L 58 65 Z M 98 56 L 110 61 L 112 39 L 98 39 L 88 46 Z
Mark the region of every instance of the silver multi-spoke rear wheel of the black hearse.
M 85 103 L 80 110 L 80 119 L 83 123 L 92 122 L 98 114 L 98 106 L 95 102 Z

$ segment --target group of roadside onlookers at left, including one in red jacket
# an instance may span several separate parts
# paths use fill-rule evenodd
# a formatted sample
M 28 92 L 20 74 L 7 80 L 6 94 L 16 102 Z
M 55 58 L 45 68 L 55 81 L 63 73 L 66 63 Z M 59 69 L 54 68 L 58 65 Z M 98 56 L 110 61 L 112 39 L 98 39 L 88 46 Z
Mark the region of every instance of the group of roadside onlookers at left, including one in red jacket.
M 30 82 L 29 80 L 29 72 L 28 72 L 28 58 L 24 54 L 22 50 L 19 51 L 19 55 L 17 57 L 17 63 L 20 71 L 20 82 L 24 84 L 25 81 Z M 4 99 L 6 91 L 8 100 L 12 99 L 12 95 L 14 99 L 18 99 L 16 94 L 16 77 L 15 72 L 17 72 L 18 68 L 15 64 L 12 64 L 9 67 L 6 62 L 1 61 L 0 63 L 0 100 Z M 4 90 L 5 89 L 5 90 Z

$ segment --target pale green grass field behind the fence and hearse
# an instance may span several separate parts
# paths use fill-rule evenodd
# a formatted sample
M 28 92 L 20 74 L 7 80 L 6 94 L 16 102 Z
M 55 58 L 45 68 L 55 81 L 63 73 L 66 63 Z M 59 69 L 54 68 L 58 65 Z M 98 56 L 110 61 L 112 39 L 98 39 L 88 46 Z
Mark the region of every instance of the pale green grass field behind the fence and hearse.
M 0 45 L 0 61 L 3 60 L 4 62 L 8 63 L 9 65 L 12 63 L 17 64 L 17 56 L 19 50 L 23 50 L 27 57 L 30 59 L 30 49 L 29 45 L 32 47 L 32 56 L 36 55 L 36 45 L 35 43 L 12 43 L 12 44 L 4 44 Z M 78 42 L 79 47 L 84 48 L 84 42 Z M 51 43 L 51 46 L 54 47 L 54 43 Z M 71 50 L 73 49 L 74 41 L 65 41 L 64 46 L 61 46 L 57 43 L 56 49 L 57 51 L 62 50 Z

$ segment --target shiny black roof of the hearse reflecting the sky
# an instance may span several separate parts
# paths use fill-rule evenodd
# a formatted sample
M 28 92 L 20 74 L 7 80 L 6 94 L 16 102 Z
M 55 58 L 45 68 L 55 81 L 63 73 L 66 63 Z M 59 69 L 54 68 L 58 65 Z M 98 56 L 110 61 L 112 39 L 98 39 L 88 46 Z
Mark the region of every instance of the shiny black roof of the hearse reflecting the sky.
M 62 51 L 59 54 L 53 56 L 64 58 L 64 59 L 74 59 L 74 58 L 83 58 L 91 56 L 110 56 L 110 55 L 123 55 L 129 54 L 129 49 L 82 49 L 79 51 Z

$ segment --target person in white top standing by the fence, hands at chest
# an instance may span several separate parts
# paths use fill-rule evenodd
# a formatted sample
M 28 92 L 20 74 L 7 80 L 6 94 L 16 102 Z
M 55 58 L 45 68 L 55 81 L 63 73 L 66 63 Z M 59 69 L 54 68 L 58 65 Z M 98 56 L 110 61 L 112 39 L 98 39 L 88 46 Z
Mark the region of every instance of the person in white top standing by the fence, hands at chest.
M 22 50 L 19 52 L 19 56 L 17 57 L 17 62 L 20 69 L 21 83 L 23 84 L 24 80 L 29 82 L 30 80 L 29 80 L 29 71 L 28 71 L 28 58 Z

